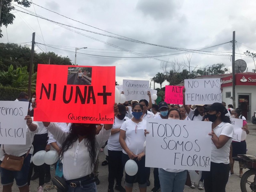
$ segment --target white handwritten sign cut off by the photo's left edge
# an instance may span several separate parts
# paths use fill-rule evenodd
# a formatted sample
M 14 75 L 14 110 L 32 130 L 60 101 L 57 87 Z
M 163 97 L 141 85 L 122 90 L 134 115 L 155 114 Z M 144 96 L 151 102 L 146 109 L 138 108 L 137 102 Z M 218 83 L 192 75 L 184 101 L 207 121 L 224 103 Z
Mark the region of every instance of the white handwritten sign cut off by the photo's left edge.
M 28 102 L 0 101 L 0 144 L 26 144 Z

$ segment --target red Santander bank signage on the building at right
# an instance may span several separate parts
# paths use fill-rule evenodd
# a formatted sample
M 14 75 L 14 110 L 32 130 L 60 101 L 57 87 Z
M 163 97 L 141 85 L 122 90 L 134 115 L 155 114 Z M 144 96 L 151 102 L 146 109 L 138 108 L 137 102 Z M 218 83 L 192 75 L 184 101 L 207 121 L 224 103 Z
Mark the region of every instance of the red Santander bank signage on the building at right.
M 256 74 L 236 74 L 236 85 L 256 85 Z M 223 77 L 220 79 L 221 87 L 232 86 L 232 76 Z

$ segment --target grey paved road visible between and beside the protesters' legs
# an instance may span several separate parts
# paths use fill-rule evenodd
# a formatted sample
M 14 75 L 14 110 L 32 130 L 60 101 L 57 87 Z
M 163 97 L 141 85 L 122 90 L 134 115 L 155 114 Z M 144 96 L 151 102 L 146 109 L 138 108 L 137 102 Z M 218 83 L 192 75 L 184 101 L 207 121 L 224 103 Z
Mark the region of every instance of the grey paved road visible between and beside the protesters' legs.
M 249 155 L 256 155 L 256 136 L 255 136 L 255 132 L 256 132 L 256 125 L 252 125 L 251 123 L 248 124 L 249 125 L 249 129 L 250 129 L 250 134 L 247 135 L 246 138 L 246 143 L 247 143 L 247 154 Z M 251 134 L 252 133 L 252 134 Z M 99 166 L 99 171 L 100 171 L 100 175 L 99 175 L 99 180 L 100 180 L 100 185 L 97 186 L 98 188 L 98 192 L 107 192 L 108 190 L 108 166 L 102 166 L 101 163 L 105 160 L 105 155 L 103 152 L 99 152 L 99 158 L 100 158 L 100 166 Z M 244 172 L 247 170 L 244 170 Z M 235 162 L 234 165 L 234 174 L 231 175 L 229 177 L 229 181 L 226 187 L 226 192 L 240 192 L 240 178 L 239 178 L 239 166 L 238 163 Z M 54 176 L 54 172 L 51 171 L 52 177 Z M 151 174 L 150 174 L 150 181 L 151 181 L 151 185 L 147 188 L 147 192 L 150 192 L 151 189 L 154 187 L 154 177 L 153 177 L 153 169 L 151 169 Z M 36 192 L 37 191 L 37 187 L 38 187 L 38 179 L 35 181 L 31 181 L 31 188 L 30 191 L 31 192 Z M 124 178 L 123 178 L 123 182 L 124 183 Z M 197 187 L 197 186 L 196 186 Z M 18 188 L 17 186 L 13 185 L 13 192 L 18 192 Z M 2 191 L 2 186 L 0 186 L 0 191 Z M 47 183 L 46 186 L 44 187 L 44 191 L 49 191 L 49 192 L 56 192 L 55 189 L 53 189 L 52 183 Z M 115 190 L 116 191 L 116 190 Z M 139 191 L 138 188 L 138 184 L 134 184 L 134 189 L 133 191 Z M 185 192 L 199 192 L 199 191 L 204 191 L 204 190 L 199 190 L 197 188 L 195 189 L 191 189 L 188 186 L 185 186 L 184 189 Z M 116 191 L 117 192 L 117 191 Z

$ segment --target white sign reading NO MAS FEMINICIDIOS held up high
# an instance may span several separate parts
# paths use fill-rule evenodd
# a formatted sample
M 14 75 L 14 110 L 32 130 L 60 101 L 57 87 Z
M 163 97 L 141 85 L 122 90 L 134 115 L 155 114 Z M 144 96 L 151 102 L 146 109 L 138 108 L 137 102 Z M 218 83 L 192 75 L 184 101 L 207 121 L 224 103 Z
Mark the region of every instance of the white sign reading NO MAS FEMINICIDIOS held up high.
M 212 104 L 222 102 L 220 78 L 185 79 L 184 86 L 186 105 Z

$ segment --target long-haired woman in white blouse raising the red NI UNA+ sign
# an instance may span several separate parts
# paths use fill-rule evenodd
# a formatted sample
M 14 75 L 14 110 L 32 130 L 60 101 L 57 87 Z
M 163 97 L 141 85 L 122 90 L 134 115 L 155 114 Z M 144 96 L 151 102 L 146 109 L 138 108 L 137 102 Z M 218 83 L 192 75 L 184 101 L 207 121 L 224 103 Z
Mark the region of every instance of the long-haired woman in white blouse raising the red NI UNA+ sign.
M 116 104 L 114 110 L 116 114 Z M 56 123 L 44 122 L 44 126 L 61 144 L 59 156 L 68 192 L 97 192 L 93 168 L 100 147 L 110 136 L 112 124 L 104 124 L 99 134 L 96 124 L 72 123 L 69 132 L 63 131 Z

